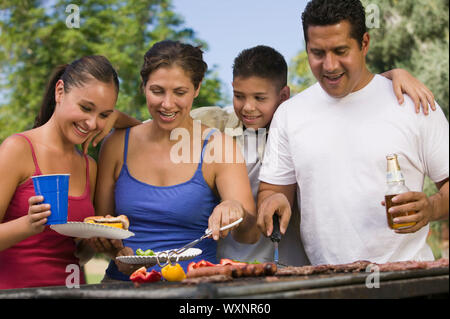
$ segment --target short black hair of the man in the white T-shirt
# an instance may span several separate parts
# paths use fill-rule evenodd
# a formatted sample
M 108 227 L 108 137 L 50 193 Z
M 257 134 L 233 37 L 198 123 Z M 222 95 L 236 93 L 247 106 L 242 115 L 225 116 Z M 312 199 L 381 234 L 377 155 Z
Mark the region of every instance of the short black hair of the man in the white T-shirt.
M 312 0 L 302 14 L 303 34 L 308 45 L 309 26 L 328 26 L 343 20 L 350 23 L 350 36 L 360 48 L 367 32 L 366 12 L 360 0 Z

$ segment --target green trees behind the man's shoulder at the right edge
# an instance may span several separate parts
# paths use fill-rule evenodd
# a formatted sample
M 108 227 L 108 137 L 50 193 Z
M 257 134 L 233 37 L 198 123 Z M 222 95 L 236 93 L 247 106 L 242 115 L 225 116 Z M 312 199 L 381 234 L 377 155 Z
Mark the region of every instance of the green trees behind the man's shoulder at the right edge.
M 363 0 L 376 4 L 380 27 L 369 30 L 367 62 L 380 73 L 404 68 L 425 83 L 449 116 L 449 1 Z

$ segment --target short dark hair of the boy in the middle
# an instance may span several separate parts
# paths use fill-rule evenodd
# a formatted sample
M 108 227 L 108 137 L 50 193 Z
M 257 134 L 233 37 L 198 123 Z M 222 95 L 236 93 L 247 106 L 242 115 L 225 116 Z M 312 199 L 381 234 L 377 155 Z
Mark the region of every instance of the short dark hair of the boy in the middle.
M 276 82 L 280 90 L 287 85 L 287 72 L 284 57 L 265 45 L 243 50 L 233 64 L 233 79 L 258 76 Z

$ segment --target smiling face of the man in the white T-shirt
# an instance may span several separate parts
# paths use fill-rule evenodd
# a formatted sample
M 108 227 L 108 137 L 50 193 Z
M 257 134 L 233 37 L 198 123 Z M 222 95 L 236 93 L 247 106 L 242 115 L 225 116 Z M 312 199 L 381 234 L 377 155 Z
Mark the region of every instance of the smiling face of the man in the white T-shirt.
M 366 86 L 372 75 L 366 67 L 369 35 L 362 46 L 350 36 L 346 20 L 329 26 L 308 27 L 308 61 L 322 88 L 331 96 L 344 97 Z

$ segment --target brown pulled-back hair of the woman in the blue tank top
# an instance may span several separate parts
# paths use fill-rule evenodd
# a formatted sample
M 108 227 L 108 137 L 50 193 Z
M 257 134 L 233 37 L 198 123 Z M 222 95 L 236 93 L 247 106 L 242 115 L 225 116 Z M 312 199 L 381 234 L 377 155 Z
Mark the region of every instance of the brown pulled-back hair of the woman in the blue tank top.
M 147 84 L 149 75 L 160 67 L 177 65 L 190 77 L 195 89 L 203 80 L 208 65 L 203 60 L 200 47 L 179 41 L 164 40 L 155 43 L 144 55 L 141 68 L 142 88 Z

